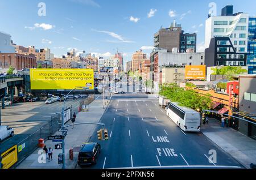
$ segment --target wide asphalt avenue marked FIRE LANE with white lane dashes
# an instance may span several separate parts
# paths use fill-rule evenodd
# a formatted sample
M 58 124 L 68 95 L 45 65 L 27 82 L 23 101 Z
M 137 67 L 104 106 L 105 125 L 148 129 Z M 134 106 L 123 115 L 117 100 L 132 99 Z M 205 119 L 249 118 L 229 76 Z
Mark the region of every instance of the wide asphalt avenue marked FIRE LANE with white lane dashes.
M 96 165 L 82 168 L 243 168 L 200 132 L 181 131 L 154 95 L 114 95 L 101 122 L 109 140 L 94 132 L 90 142 L 101 144 L 101 154 Z M 209 151 L 216 151 L 216 162 Z

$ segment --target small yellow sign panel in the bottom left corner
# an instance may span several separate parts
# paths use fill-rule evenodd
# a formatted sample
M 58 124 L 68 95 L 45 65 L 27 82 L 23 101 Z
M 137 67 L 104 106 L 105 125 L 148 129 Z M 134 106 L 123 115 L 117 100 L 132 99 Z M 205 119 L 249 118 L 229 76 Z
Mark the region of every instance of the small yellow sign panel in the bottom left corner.
M 1 154 L 3 169 L 9 169 L 18 161 L 17 145 Z

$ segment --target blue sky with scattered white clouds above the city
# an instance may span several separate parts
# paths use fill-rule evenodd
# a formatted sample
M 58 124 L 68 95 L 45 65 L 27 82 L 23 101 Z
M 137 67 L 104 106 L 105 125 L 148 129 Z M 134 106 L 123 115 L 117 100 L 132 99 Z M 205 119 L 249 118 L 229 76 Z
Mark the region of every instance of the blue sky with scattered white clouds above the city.
M 46 4 L 46 16 L 38 15 L 40 2 Z M 0 31 L 15 44 L 50 48 L 57 56 L 76 48 L 108 58 L 118 48 L 129 61 L 141 48 L 150 54 L 154 33 L 174 19 L 185 32 L 197 33 L 198 49 L 203 49 L 210 2 L 218 15 L 232 4 L 234 12 L 255 16 L 255 0 L 0 0 Z

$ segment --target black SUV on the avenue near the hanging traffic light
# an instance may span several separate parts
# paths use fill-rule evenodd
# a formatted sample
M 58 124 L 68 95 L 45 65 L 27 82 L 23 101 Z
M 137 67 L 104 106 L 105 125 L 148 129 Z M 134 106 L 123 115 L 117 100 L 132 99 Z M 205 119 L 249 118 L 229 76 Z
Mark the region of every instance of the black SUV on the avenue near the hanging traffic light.
M 86 143 L 82 146 L 79 156 L 78 164 L 81 165 L 92 165 L 97 163 L 98 155 L 101 152 L 101 145 L 98 143 Z

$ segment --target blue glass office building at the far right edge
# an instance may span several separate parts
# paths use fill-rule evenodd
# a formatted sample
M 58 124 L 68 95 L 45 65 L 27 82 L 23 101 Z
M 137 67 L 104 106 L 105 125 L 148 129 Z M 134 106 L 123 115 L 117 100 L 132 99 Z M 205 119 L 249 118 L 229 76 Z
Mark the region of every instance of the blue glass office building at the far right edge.
M 249 74 L 256 74 L 256 16 L 249 18 L 247 66 Z

